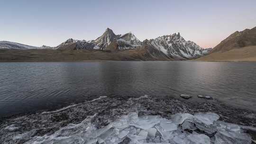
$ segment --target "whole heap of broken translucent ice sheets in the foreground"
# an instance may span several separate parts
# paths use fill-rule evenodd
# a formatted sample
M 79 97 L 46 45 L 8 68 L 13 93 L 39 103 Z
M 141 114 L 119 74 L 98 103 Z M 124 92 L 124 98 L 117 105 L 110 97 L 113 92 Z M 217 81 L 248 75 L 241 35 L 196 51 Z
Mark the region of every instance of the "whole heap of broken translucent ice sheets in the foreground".
M 16 138 L 18 141 L 28 140 L 27 144 L 250 144 L 250 136 L 241 126 L 219 121 L 218 118 L 212 113 L 198 113 L 195 117 L 180 113 L 169 120 L 159 116 L 137 117 L 137 113 L 130 113 L 97 129 L 88 117 L 79 124 L 64 126 L 52 135 L 34 136 L 31 133 L 16 135 Z M 197 128 L 203 134 L 213 134 L 218 130 L 216 138 L 183 130 Z

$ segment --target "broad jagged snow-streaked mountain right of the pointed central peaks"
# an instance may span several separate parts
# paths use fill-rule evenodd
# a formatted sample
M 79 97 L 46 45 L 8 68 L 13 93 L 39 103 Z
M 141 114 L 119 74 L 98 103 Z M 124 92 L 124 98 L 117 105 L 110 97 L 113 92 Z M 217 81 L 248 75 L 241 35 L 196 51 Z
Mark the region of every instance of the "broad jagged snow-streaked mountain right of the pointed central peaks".
M 186 41 L 180 33 L 159 36 L 144 41 L 144 45 L 151 45 L 174 59 L 192 59 L 207 54 L 210 49 L 203 49 L 192 41 Z

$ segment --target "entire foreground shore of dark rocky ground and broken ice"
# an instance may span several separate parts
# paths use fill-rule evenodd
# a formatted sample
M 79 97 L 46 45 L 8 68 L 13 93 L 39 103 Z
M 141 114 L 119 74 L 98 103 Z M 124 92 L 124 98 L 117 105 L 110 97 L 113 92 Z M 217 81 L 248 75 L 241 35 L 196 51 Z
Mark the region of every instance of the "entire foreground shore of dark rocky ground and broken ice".
M 182 123 L 174 123 L 173 125 L 169 125 L 172 122 L 174 122 L 174 114 L 177 113 L 187 113 L 186 116 L 187 120 L 184 119 Z M 209 126 L 209 121 L 205 122 L 203 120 L 202 124 L 200 125 L 198 121 L 193 121 L 194 118 L 200 119 L 198 117 L 204 116 L 202 114 L 209 113 L 210 116 L 208 117 L 212 124 L 216 124 L 215 128 L 212 130 L 210 129 L 204 129 L 203 127 Z M 214 113 L 214 114 L 213 114 Z M 128 119 L 128 116 L 131 116 L 131 114 L 137 114 L 137 118 L 142 120 L 143 117 L 151 117 L 147 118 L 146 121 L 153 122 L 153 126 L 149 127 L 141 127 L 144 123 L 141 124 L 131 124 L 125 125 L 122 124 L 122 126 L 126 126 L 124 128 L 115 127 L 116 125 L 112 125 L 113 122 L 117 122 L 123 118 L 123 120 Z M 201 115 L 199 115 L 201 114 Z M 134 117 L 136 118 L 136 116 Z M 192 119 L 191 119 L 192 118 Z M 203 117 L 201 117 L 204 119 Z M 138 122 L 138 119 L 135 120 Z M 152 120 L 153 119 L 153 120 Z M 170 122 L 171 121 L 171 122 Z M 219 122 L 221 121 L 221 122 Z M 166 123 L 165 123 L 166 122 Z M 217 122 L 217 123 L 216 123 Z M 227 123 L 232 124 L 227 124 Z M 190 124 L 193 123 L 193 125 L 190 126 Z M 29 115 L 23 115 L 23 116 L 13 116 L 9 118 L 4 118 L 0 121 L 0 142 L 2 144 L 49 144 L 50 142 L 59 142 L 60 144 L 87 144 L 90 141 L 91 144 L 94 144 L 93 142 L 101 142 L 101 139 L 97 139 L 93 141 L 93 139 L 73 139 L 72 136 L 77 136 L 78 133 L 84 133 L 88 134 L 86 132 L 94 132 L 99 130 L 104 130 L 101 134 L 105 134 L 106 131 L 110 131 L 111 134 L 116 134 L 114 132 L 117 131 L 117 129 L 120 131 L 120 135 L 125 135 L 122 140 L 122 144 L 134 144 L 134 140 L 138 140 L 137 138 L 139 136 L 146 135 L 146 138 L 142 138 L 143 141 L 141 141 L 141 137 L 139 138 L 139 143 L 144 142 L 151 142 L 151 143 L 163 143 L 170 141 L 169 139 L 166 139 L 165 133 L 162 132 L 161 134 L 161 127 L 162 128 L 168 128 L 167 134 L 169 135 L 170 131 L 175 131 L 175 133 L 179 134 L 180 136 L 177 138 L 185 139 L 186 141 L 193 141 L 195 137 L 204 137 L 203 140 L 206 140 L 208 142 L 208 138 L 210 138 L 210 143 L 214 142 L 214 135 L 217 135 L 218 137 L 221 137 L 223 133 L 217 131 L 217 127 L 221 127 L 220 125 L 230 125 L 232 128 L 231 130 L 235 130 L 236 132 L 239 132 L 240 134 L 243 134 L 242 136 L 249 139 L 249 137 L 252 137 L 252 139 L 255 140 L 255 132 L 253 129 L 247 130 L 244 128 L 241 128 L 241 126 L 236 127 L 237 125 L 242 126 L 250 126 L 255 127 L 256 126 L 256 116 L 253 112 L 243 109 L 236 109 L 232 107 L 225 106 L 219 102 L 204 100 L 201 103 L 191 103 L 187 102 L 186 100 L 178 100 L 178 99 L 168 99 L 168 98 L 153 98 L 150 96 L 142 96 L 140 98 L 127 98 L 127 97 L 100 97 L 98 99 L 94 99 L 91 101 L 87 101 L 80 104 L 75 104 L 66 108 L 61 108 L 59 110 L 55 111 L 48 111 L 43 113 L 35 113 L 35 114 L 29 114 Z M 236 125 L 233 125 L 236 124 Z M 188 128 L 183 129 L 183 125 Z M 218 126 L 217 126 L 218 125 Z M 160 127 L 159 127 L 160 126 Z M 196 127 L 193 127 L 196 126 Z M 229 127 L 230 127 L 229 126 Z M 235 126 L 235 128 L 234 128 Z M 113 129 L 114 127 L 114 129 Z M 121 133 L 121 130 L 124 130 L 125 128 L 131 128 L 135 127 L 137 128 L 137 132 L 134 134 L 128 134 L 124 131 Z M 91 128 L 91 129 L 90 129 Z M 151 129 L 148 131 L 148 129 Z M 156 131 L 154 130 L 156 129 Z M 219 130 L 220 128 L 218 128 Z M 229 128 L 230 130 L 230 128 Z M 113 132 L 112 132 L 113 131 Z M 165 130 L 164 130 L 165 131 Z M 150 137 L 155 132 L 155 137 L 158 136 L 157 140 Z M 173 132 L 172 132 L 173 133 Z M 225 133 L 225 132 L 224 132 Z M 171 135 L 171 134 L 170 134 Z M 170 136 L 169 135 L 169 136 Z M 183 135 L 183 136 L 182 136 Z M 188 138 L 184 138 L 188 136 Z M 189 136 L 190 135 L 190 136 Z M 230 135 L 233 135 L 230 134 Z M 99 135 L 98 136 L 102 136 Z M 98 137 L 96 136 L 96 137 Z M 110 137 L 111 135 L 105 135 L 105 140 Z M 175 136 L 175 135 L 173 135 Z M 177 135 L 176 135 L 177 136 Z M 52 139 L 51 139 L 51 138 Z M 53 138 L 54 137 L 54 138 Z M 89 137 L 88 135 L 85 137 Z M 164 138 L 165 137 L 165 138 Z M 95 138 L 95 136 L 94 136 Z M 121 139 L 122 139 L 121 138 Z M 174 137 L 173 137 L 174 138 Z M 65 141 L 62 139 L 65 139 Z M 149 140 L 150 139 L 150 140 Z M 48 140 L 48 141 L 47 141 Z M 52 141 L 50 141 L 52 140 Z M 69 143 L 68 140 L 71 140 L 72 142 L 76 143 Z M 100 141 L 99 141 L 100 140 Z M 107 141 L 105 141 L 107 143 Z M 159 141 L 158 141 L 159 140 Z M 248 142 L 245 144 L 249 144 L 248 141 L 242 141 L 242 142 Z M 182 141 L 182 140 L 180 140 Z M 37 143 L 36 143 L 37 142 Z M 103 141 L 102 141 L 103 142 Z M 221 141 L 219 141 L 221 142 Z M 174 142 L 175 144 L 176 142 Z M 96 143 L 95 143 L 96 144 Z M 115 143 L 113 143 L 115 144 Z M 168 144 L 168 143 L 167 143 Z M 172 144 L 172 143 L 171 143 Z M 179 144 L 179 143 L 177 143 Z M 180 144 L 186 144 L 186 143 L 180 143 Z M 201 144 L 201 143 L 192 143 L 191 144 Z M 214 143 L 213 143 L 214 144 Z M 222 144 L 222 143 L 216 143 L 216 144 Z M 229 143 L 228 143 L 229 144 Z M 234 143 L 236 144 L 236 143 Z M 238 143 L 243 144 L 243 143 Z

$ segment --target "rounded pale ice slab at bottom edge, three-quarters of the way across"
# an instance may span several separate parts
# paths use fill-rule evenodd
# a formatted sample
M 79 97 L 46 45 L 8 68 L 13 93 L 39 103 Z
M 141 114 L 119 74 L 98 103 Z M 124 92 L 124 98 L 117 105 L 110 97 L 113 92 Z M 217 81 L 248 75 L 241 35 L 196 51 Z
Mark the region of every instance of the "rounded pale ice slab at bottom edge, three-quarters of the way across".
M 191 135 L 188 135 L 187 139 L 192 142 L 189 144 L 210 144 L 209 136 L 203 134 L 199 135 L 195 132 L 193 132 Z

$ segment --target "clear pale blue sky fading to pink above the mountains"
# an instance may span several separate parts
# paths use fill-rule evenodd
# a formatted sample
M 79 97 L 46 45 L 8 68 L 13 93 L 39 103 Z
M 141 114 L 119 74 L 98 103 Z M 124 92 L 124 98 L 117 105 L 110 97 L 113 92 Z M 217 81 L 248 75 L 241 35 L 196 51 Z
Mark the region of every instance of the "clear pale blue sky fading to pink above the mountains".
M 0 0 L 0 41 L 56 46 L 95 39 L 107 27 L 141 41 L 180 32 L 214 47 L 256 27 L 256 0 Z

